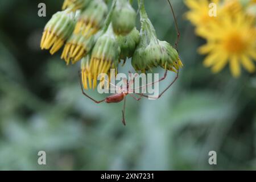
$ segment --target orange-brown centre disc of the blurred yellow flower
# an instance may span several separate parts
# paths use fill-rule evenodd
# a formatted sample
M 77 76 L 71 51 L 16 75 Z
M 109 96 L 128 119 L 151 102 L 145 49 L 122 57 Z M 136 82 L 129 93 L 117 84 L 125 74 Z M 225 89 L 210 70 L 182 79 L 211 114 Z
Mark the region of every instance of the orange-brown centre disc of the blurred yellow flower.
M 246 44 L 240 35 L 231 34 L 224 40 L 224 47 L 230 53 L 241 53 L 245 50 Z

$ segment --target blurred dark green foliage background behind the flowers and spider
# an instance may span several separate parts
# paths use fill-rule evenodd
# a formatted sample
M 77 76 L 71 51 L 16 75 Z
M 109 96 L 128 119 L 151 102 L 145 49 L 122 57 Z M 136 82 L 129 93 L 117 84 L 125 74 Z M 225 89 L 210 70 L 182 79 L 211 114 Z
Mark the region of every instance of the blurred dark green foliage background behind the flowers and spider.
M 40 2 L 47 17 L 38 16 Z M 79 64 L 67 67 L 61 51 L 50 56 L 40 50 L 43 28 L 62 3 L 0 1 L 0 169 L 256 169 L 255 75 L 235 79 L 228 68 L 213 75 L 203 67 L 197 47 L 204 40 L 184 20 L 182 1 L 173 1 L 184 63 L 180 78 L 159 100 L 128 96 L 126 127 L 122 103 L 97 105 L 81 94 Z M 167 1 L 147 0 L 146 10 L 158 38 L 174 44 Z M 127 63 L 121 71 L 131 69 Z M 160 89 L 174 76 L 169 73 Z M 46 166 L 38 165 L 40 150 Z M 210 166 L 212 150 L 217 165 Z

